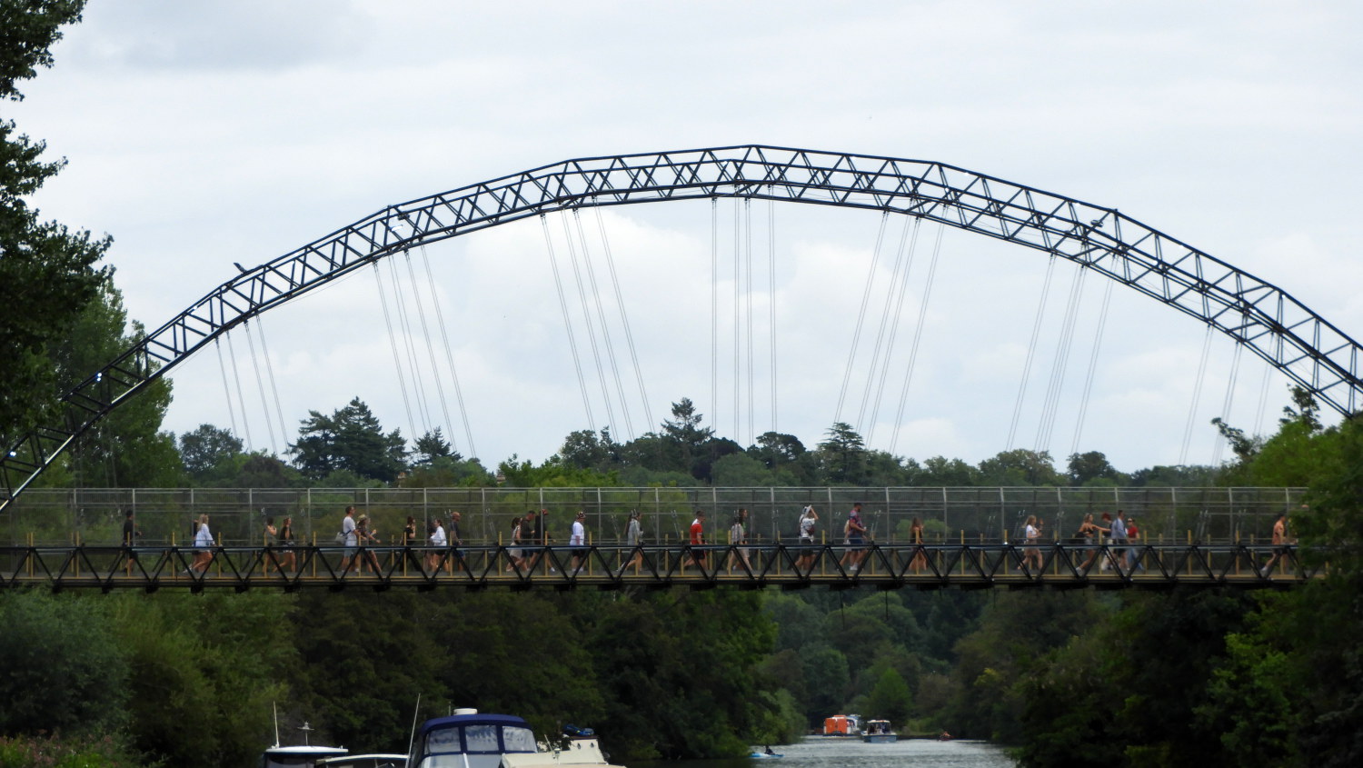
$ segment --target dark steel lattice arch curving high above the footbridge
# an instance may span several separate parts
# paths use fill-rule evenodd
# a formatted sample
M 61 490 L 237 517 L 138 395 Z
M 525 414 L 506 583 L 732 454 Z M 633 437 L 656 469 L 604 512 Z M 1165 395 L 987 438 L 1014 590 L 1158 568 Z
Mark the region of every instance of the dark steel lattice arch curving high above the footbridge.
M 416 246 L 589 206 L 754 198 L 915 216 L 1075 262 L 1201 319 L 1343 415 L 1359 344 L 1291 295 L 1116 209 L 920 160 L 731 146 L 568 160 L 393 205 L 241 271 L 63 398 L 0 456 L 0 510 L 82 432 L 234 326 Z

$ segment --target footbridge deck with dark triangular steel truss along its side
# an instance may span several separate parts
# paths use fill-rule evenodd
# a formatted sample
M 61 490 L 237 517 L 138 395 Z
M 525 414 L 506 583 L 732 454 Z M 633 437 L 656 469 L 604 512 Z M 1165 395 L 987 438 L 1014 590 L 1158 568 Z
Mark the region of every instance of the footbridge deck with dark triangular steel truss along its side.
M 866 554 L 860 569 L 852 567 L 852 550 L 842 546 L 522 547 L 526 561 L 519 566 L 512 563 L 508 550 L 502 546 L 369 547 L 354 551 L 346 562 L 346 548 L 339 546 L 203 551 L 172 546 L 0 547 L 0 588 L 45 585 L 105 592 L 165 588 L 338 591 L 350 585 L 373 589 L 1258 588 L 1288 587 L 1318 576 L 1317 570 L 1303 567 L 1296 547 L 1278 547 L 1280 555 L 1273 558 L 1270 544 L 1236 543 L 1135 547 L 1051 543 L 1035 547 L 1030 562 L 1025 562 L 1028 547 L 1018 544 L 870 544 L 861 550 Z M 743 550 L 747 550 L 746 559 Z M 1131 567 L 1127 559 L 1127 552 L 1133 551 L 1138 567 Z M 210 554 L 211 561 L 195 569 L 195 561 L 202 563 Z M 699 565 L 694 555 L 699 555 Z M 1261 569 L 1270 558 L 1276 562 L 1264 573 Z

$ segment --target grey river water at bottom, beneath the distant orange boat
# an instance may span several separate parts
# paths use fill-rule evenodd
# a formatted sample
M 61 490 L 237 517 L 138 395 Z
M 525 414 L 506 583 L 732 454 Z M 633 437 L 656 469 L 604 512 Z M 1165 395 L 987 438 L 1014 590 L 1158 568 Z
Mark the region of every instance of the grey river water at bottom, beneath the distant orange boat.
M 761 746 L 758 748 L 762 749 Z M 695 760 L 657 763 L 661 768 L 1013 768 L 1003 749 L 979 741 L 900 739 L 864 743 L 851 738 L 807 737 L 797 743 L 771 745 L 780 760 Z M 632 767 L 631 767 L 632 768 Z

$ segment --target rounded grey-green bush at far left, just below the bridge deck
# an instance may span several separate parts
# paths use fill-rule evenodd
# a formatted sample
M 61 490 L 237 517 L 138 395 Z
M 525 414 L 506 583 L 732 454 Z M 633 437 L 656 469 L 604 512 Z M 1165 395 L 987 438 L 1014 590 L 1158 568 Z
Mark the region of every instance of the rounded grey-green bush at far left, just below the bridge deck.
M 108 603 L 5 591 L 0 626 L 0 733 L 98 734 L 123 726 L 129 663 L 108 643 Z

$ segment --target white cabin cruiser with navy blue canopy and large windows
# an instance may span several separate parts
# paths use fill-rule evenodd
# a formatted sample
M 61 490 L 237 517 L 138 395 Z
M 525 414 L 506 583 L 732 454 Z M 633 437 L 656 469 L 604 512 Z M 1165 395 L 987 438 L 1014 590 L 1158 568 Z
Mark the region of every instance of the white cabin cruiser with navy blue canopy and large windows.
M 514 715 L 455 709 L 421 724 L 409 768 L 620 768 L 607 763 L 592 728 L 566 726 L 563 738 L 538 743 L 530 724 Z

